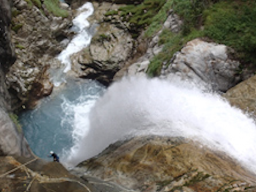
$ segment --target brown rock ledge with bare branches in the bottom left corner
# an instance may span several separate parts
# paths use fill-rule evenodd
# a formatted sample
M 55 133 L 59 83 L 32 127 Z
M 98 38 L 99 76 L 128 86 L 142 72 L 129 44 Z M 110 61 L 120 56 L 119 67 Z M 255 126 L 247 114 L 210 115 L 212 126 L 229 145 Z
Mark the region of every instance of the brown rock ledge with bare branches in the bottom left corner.
M 56 162 L 37 158 L 0 157 L 1 192 L 127 192 L 90 177 L 80 179 Z M 105 186 L 105 187 L 104 187 Z

